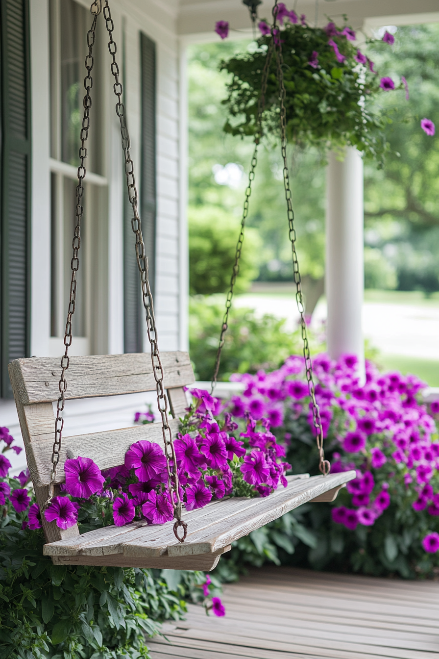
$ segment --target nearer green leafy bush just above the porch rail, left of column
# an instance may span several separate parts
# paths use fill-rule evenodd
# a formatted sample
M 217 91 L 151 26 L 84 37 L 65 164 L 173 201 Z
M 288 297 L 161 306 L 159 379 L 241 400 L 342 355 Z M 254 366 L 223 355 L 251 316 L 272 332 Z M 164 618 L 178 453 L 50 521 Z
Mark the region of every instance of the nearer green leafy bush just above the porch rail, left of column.
M 189 351 L 197 380 L 210 380 L 213 375 L 224 315 L 224 301 L 221 302 L 215 304 L 202 297 L 190 300 Z M 317 341 L 311 340 L 311 345 L 317 348 Z M 299 330 L 286 331 L 285 320 L 269 314 L 259 318 L 254 310 L 235 306 L 224 337 L 219 380 L 228 380 L 232 373 L 278 368 L 289 355 L 300 350 Z

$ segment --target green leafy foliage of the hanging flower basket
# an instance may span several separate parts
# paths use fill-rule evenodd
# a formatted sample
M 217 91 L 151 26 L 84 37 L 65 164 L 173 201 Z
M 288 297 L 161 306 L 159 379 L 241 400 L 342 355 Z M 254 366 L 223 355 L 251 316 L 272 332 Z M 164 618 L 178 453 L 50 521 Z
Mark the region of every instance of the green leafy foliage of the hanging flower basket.
M 390 119 L 375 102 L 376 94 L 383 94 L 379 76 L 354 60 L 356 45 L 344 36 L 332 39 L 346 57 L 343 63 L 337 61 L 323 29 L 287 22 L 282 31 L 287 137 L 299 146 L 322 150 L 357 146 L 365 156 L 381 162 L 387 150 L 384 127 Z M 233 76 L 224 100 L 229 115 L 226 132 L 240 136 L 257 132 L 262 70 L 271 43 L 271 35 L 261 36 L 252 53 L 222 63 L 222 69 Z M 319 56 L 318 68 L 309 65 L 313 51 Z M 263 114 L 263 129 L 268 135 L 280 131 L 276 67 L 273 55 Z

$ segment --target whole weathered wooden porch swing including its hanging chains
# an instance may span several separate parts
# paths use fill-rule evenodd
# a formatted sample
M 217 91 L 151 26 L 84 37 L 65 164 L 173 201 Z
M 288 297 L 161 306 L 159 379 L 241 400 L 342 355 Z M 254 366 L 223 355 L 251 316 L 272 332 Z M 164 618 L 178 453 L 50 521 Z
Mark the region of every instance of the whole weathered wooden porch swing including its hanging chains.
M 104 1 L 105 6 L 102 7 Z M 277 0 L 273 9 L 274 25 L 276 24 L 276 7 Z M 116 113 L 120 120 L 128 196 L 133 210 L 132 230 L 136 236 L 136 260 L 142 285 L 142 300 L 147 320 L 147 335 L 151 345 L 151 358 L 148 358 L 144 353 L 137 355 L 95 355 L 91 357 L 68 356 L 68 348 L 72 343 L 72 316 L 75 310 L 76 273 L 79 267 L 78 253 L 83 214 L 83 183 L 86 177 L 84 162 L 87 157 L 86 140 L 90 127 L 92 53 L 97 17 L 101 11 L 103 11 L 109 34 L 109 51 L 112 58 L 111 72 L 115 78 L 113 90 L 117 97 Z M 125 107 L 121 100 L 122 84 L 119 80 L 119 69 L 115 58 L 116 43 L 113 39 L 113 20 L 111 19 L 109 1 L 95 0 L 91 5 L 91 14 L 93 15 L 93 22 L 87 36 L 87 76 L 84 80 L 86 94 L 84 96 L 84 118 L 80 133 L 78 187 L 76 188 L 78 203 L 76 205 L 76 227 L 72 243 L 70 301 L 64 337 L 65 353 L 61 358 L 61 378 L 58 380 L 57 377 L 57 374 L 59 374 L 58 358 L 16 359 L 9 364 L 9 374 L 26 448 L 26 459 L 41 511 L 47 505 L 50 505 L 51 500 L 59 492 L 61 484 L 65 481 L 63 468 L 66 459 L 81 455 L 93 459 L 99 469 L 111 469 L 124 464 L 124 455 L 130 445 L 139 440 L 148 440 L 163 445 L 165 450 L 168 488 L 174 508 L 175 522 L 174 524 L 168 522 L 163 525 L 147 525 L 146 521 L 138 521 L 124 527 L 103 527 L 80 534 L 78 525 L 66 530 L 59 529 L 55 522 L 48 523 L 45 521 L 44 515 L 41 515 L 43 531 L 47 540 L 43 553 L 46 556 L 51 556 L 53 563 L 58 565 L 113 565 L 209 571 L 217 565 L 220 555 L 230 550 L 230 545 L 234 540 L 238 540 L 252 530 L 277 519 L 307 501 L 333 501 L 338 490 L 346 482 L 355 478 L 355 471 L 329 474 L 330 465 L 324 459 L 323 430 L 319 407 L 314 395 L 312 366 L 307 343 L 301 281 L 295 248 L 294 214 L 286 160 L 285 89 L 282 76 L 281 46 L 280 43 L 276 45 L 272 43 L 267 52 L 267 60 L 263 71 L 263 93 L 259 101 L 259 132 L 255 138 L 255 152 L 251 161 L 249 185 L 245 193 L 242 226 L 236 248 L 230 291 L 227 295 L 226 313 L 220 333 L 212 391 L 215 388 L 219 372 L 220 354 L 224 344 L 224 333 L 227 329 L 228 312 L 232 304 L 234 283 L 239 271 L 251 182 L 255 176 L 257 148 L 262 136 L 261 116 L 264 109 L 265 89 L 267 87 L 269 65 L 274 53 L 280 84 L 282 158 L 284 161 L 284 183 L 293 253 L 294 280 L 297 287 L 296 299 L 301 318 L 301 331 L 304 342 L 303 354 L 312 401 L 313 423 L 317 435 L 321 475 L 311 478 L 309 474 L 287 476 L 288 486 L 275 490 L 267 498 L 225 498 L 213 501 L 201 509 L 184 511 L 183 519 L 183 505 L 178 489 L 176 455 L 172 440 L 176 438 L 178 432 L 178 417 L 184 415 L 187 407 L 183 387 L 194 383 L 194 372 L 188 353 L 170 352 L 161 355 L 159 353 L 153 299 L 148 280 L 148 264 L 138 215 L 138 194 L 134 180 L 134 165 L 130 156 L 130 138 L 126 127 Z M 66 437 L 63 445 L 61 445 L 62 412 L 67 391 L 67 372 L 69 399 L 156 390 L 161 422 L 122 430 Z M 56 418 L 52 406 L 55 401 L 57 401 Z M 170 412 L 172 418 L 169 418 L 168 412 Z M 53 441 L 54 426 L 55 442 Z

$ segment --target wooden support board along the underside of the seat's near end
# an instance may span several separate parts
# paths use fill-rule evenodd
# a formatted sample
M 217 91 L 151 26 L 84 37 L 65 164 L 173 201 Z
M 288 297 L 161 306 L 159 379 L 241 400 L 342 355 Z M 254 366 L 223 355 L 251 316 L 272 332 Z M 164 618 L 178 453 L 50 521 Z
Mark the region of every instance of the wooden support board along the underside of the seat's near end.
M 108 565 L 110 567 L 142 567 L 143 569 L 157 568 L 165 570 L 202 570 L 210 572 L 218 565 L 222 554 L 229 552 L 232 547 L 224 547 L 215 554 L 200 554 L 199 556 L 161 556 L 160 558 L 136 558 L 135 556 L 121 556 L 109 554 L 99 558 L 97 556 L 53 556 L 55 565 Z

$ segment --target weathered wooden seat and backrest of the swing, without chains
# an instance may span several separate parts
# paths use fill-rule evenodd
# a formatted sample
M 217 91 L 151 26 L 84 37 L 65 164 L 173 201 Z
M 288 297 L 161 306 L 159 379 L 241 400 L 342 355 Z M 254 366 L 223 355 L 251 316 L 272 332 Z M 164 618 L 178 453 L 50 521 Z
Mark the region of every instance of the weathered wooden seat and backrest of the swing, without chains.
M 162 353 L 165 388 L 176 437 L 179 416 L 187 407 L 184 386 L 194 382 L 188 353 Z M 40 508 L 47 500 L 55 416 L 53 401 L 59 397 L 59 358 L 16 359 L 9 364 L 26 459 Z M 155 390 L 151 357 L 145 353 L 70 357 L 66 399 L 121 395 Z M 161 423 L 63 437 L 55 484 L 64 482 L 64 463 L 69 455 L 90 457 L 100 469 L 123 465 L 134 442 L 148 440 L 163 446 Z M 44 554 L 53 563 L 70 565 L 115 565 L 209 571 L 230 544 L 252 530 L 277 519 L 307 501 L 333 501 L 338 490 L 355 478 L 355 471 L 329 476 L 288 476 L 288 486 L 267 498 L 225 498 L 194 511 L 185 511 L 188 536 L 176 540 L 172 522 L 147 525 L 135 522 L 124 527 L 104 527 L 79 533 L 78 526 L 59 529 L 43 520 L 47 544 Z

